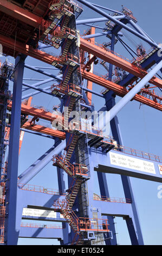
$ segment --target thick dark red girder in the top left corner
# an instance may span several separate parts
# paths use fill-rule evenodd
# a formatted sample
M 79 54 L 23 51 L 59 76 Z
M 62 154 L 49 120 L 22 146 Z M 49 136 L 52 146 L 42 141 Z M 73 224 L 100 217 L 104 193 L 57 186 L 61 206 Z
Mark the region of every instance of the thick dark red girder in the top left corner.
M 39 17 L 26 9 L 18 7 L 16 4 L 13 4 L 7 0 L 0 0 L 0 11 L 35 28 L 39 28 L 42 24 L 42 17 Z

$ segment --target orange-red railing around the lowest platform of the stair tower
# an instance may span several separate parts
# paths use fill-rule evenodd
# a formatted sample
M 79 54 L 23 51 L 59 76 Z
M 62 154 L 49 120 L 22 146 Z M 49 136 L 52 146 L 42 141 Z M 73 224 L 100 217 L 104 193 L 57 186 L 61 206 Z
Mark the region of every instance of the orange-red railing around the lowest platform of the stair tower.
M 79 218 L 80 231 L 108 232 L 108 220 L 99 218 Z

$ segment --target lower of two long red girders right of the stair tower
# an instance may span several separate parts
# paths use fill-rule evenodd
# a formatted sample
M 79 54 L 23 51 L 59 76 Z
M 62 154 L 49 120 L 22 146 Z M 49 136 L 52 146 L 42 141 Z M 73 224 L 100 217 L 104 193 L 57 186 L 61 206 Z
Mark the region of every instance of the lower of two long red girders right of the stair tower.
M 113 92 L 120 97 L 124 97 L 128 92 L 126 88 L 119 86 L 119 84 L 115 84 L 111 81 L 106 80 L 105 78 L 102 78 L 100 76 L 87 72 L 86 70 L 81 69 L 81 75 L 82 75 L 82 78 L 88 81 L 99 84 L 100 86 L 103 86 L 106 89 L 113 90 Z M 150 106 L 162 111 L 162 105 L 160 103 L 156 103 L 153 100 L 147 99 L 147 97 L 136 94 L 133 97 L 133 100 L 144 103 L 147 106 Z

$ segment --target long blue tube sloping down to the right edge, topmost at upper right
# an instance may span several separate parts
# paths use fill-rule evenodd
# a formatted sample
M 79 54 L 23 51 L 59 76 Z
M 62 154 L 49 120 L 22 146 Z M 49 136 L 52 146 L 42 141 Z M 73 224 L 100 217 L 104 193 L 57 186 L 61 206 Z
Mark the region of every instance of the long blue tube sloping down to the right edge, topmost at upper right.
M 127 31 L 131 32 L 134 35 L 137 35 L 140 39 L 144 40 L 145 42 L 148 42 L 148 44 L 159 48 L 160 46 L 158 44 L 156 44 L 155 42 L 153 42 L 152 40 L 150 40 L 149 38 L 146 38 L 146 36 L 141 35 L 140 33 L 138 33 L 137 31 L 134 31 L 134 29 L 128 27 L 127 25 L 125 25 L 124 23 L 122 23 L 121 21 L 119 21 L 118 19 L 115 19 L 114 16 L 111 16 L 107 13 L 105 13 L 104 11 L 96 8 L 94 5 L 90 4 L 89 2 L 85 1 L 85 0 L 78 0 L 78 2 L 85 4 L 87 7 L 89 7 L 90 9 L 96 11 L 97 13 L 101 14 L 102 16 L 106 17 L 107 19 L 113 21 L 114 23 L 116 23 L 117 25 L 121 26 L 122 28 L 125 28 Z M 119 16 L 117 16 L 119 17 Z M 86 22 L 87 23 L 87 22 Z

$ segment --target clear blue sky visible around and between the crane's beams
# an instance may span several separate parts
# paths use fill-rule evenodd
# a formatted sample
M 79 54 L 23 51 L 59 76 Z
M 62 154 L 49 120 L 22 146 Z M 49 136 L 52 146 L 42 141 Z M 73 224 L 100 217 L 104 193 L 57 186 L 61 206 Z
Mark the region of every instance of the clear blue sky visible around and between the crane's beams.
M 144 0 L 144 1 L 128 1 L 128 0 L 116 0 L 116 1 L 104 1 L 104 0 L 93 0 L 91 1 L 96 4 L 103 5 L 105 7 L 121 10 L 121 4 L 131 9 L 133 15 L 138 20 L 138 25 L 148 34 L 151 38 L 158 43 L 162 43 L 160 34 L 160 24 L 161 24 L 161 7 L 162 4 L 159 0 Z M 100 17 L 94 11 L 83 6 L 83 13 L 79 19 L 90 19 L 91 17 Z M 109 11 L 108 11 L 109 13 Z M 104 22 L 96 25 L 105 25 Z M 79 26 L 81 33 L 88 27 Z M 96 32 L 100 32 L 96 30 Z M 134 41 L 134 44 L 129 42 L 131 47 L 135 44 L 141 42 L 137 38 L 134 38 L 131 34 L 127 34 Z M 105 37 L 96 38 L 95 41 L 100 43 L 105 42 Z M 146 44 L 144 43 L 144 46 Z M 150 48 L 150 47 L 148 47 Z M 51 51 L 51 50 L 50 50 Z M 115 52 L 120 53 L 123 56 L 129 57 L 129 54 L 120 45 L 115 46 Z M 129 57 L 130 58 L 130 57 Z M 4 60 L 4 57 L 1 58 Z M 9 57 L 13 62 L 13 58 Z M 26 63 L 34 66 L 48 66 L 46 63 L 41 63 L 38 60 L 28 57 Z M 106 72 L 101 68 L 101 66 L 95 66 L 96 72 Z M 48 70 L 48 72 L 53 72 L 57 74 L 57 71 Z M 105 72 L 105 73 L 104 73 Z M 24 78 L 43 78 L 47 79 L 47 76 L 40 75 L 34 71 L 25 69 Z M 24 81 L 30 83 L 29 81 Z M 35 82 L 33 82 L 35 83 Z M 44 87 L 50 86 L 52 83 L 44 85 Z M 43 86 L 41 86 L 43 88 Z M 101 87 L 98 85 L 93 86 L 94 90 L 97 92 L 101 91 Z M 31 92 L 31 90 L 28 90 Z M 160 91 L 159 91 L 160 92 Z M 120 97 L 116 97 L 116 101 L 120 100 Z M 99 109 L 104 105 L 104 100 L 100 100 L 97 96 L 93 95 L 92 101 L 95 103 L 95 109 Z M 38 94 L 33 97 L 32 103 L 38 106 L 44 106 L 48 109 L 52 109 L 54 105 L 59 103 L 59 100 L 55 97 Z M 142 105 L 139 109 L 139 103 L 135 101 L 129 102 L 118 114 L 118 119 L 120 123 L 120 129 L 122 133 L 122 139 L 126 147 L 131 147 L 134 149 L 139 149 L 148 153 L 153 153 L 155 155 L 162 155 L 161 144 L 162 139 L 160 136 L 162 124 L 161 124 L 161 113 L 156 109 Z M 43 138 L 40 136 L 30 135 L 25 133 L 22 149 L 20 153 L 19 161 L 19 174 L 27 169 L 30 164 L 35 162 L 38 157 L 40 157 L 44 152 L 46 152 L 52 145 L 54 141 L 49 138 Z M 109 190 L 112 197 L 123 197 L 124 192 L 121 186 L 121 178 L 119 175 L 107 174 L 107 181 Z M 139 218 L 141 223 L 141 229 L 144 236 L 144 242 L 146 245 L 161 245 L 162 244 L 162 199 L 157 197 L 158 182 L 145 181 L 140 179 L 131 178 L 132 187 L 134 191 L 134 197 L 137 202 Z M 57 188 L 56 181 L 56 168 L 49 163 L 29 184 L 40 185 L 49 188 Z M 99 191 L 99 186 L 96 186 L 96 191 Z M 125 222 L 122 218 L 116 218 L 116 227 L 118 229 L 118 243 L 120 245 L 129 245 L 130 240 L 128 237 L 128 232 Z M 58 244 L 54 240 L 40 240 L 40 239 L 19 239 L 18 244 L 20 245 L 32 245 L 32 244 Z

